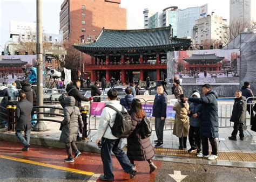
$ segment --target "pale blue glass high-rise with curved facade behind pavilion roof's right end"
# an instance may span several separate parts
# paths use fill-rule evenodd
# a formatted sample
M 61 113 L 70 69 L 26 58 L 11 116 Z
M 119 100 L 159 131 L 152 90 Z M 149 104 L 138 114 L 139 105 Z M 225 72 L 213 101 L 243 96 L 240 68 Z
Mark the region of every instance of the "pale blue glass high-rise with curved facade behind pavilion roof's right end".
M 178 9 L 177 6 L 165 8 L 161 12 L 144 9 L 144 29 L 172 25 L 173 36 L 192 37 L 194 22 L 207 15 L 207 4 L 199 7 Z

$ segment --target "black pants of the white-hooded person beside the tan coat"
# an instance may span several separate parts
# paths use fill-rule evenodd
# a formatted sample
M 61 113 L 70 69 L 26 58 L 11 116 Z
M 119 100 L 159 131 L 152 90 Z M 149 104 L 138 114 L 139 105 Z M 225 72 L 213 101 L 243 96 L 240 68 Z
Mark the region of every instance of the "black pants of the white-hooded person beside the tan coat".
M 188 140 L 190 141 L 190 146 L 192 149 L 201 150 L 201 138 L 199 136 L 199 127 L 190 126 L 190 131 L 188 132 Z

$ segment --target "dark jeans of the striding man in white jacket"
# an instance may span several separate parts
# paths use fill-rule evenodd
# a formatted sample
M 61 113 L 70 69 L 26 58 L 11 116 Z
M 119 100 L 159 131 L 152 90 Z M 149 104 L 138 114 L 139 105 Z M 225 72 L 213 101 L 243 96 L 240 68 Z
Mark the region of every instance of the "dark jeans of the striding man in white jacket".
M 102 138 L 102 148 L 100 149 L 100 156 L 102 157 L 103 171 L 106 178 L 113 178 L 113 165 L 111 151 L 116 156 L 118 162 L 123 167 L 125 172 L 129 172 L 133 165 L 131 164 L 129 158 L 126 156 L 125 152 L 121 149 L 120 138 L 119 139 L 107 139 Z

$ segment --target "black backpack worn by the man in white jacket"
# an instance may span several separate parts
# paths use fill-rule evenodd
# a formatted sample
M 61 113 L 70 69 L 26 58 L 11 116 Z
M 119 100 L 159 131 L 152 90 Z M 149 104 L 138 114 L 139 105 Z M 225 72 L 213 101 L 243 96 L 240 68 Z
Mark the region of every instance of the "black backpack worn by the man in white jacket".
M 110 105 L 106 105 L 105 107 L 117 111 L 113 127 L 110 127 L 109 124 L 112 135 L 117 138 L 127 138 L 131 134 L 132 129 L 132 118 L 129 113 L 127 113 L 127 111 L 124 111 L 124 106 L 122 106 L 122 111 L 119 111 L 118 109 Z

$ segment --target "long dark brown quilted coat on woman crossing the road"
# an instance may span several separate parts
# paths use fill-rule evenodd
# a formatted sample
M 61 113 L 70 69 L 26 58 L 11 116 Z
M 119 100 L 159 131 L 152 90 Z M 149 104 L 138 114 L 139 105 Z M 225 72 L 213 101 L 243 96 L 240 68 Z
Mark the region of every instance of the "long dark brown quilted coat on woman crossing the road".
M 132 133 L 127 138 L 127 156 L 130 160 L 149 160 L 154 157 L 154 148 L 150 142 L 150 137 L 142 139 L 139 128 L 142 125 L 142 118 L 138 118 L 135 113 L 131 113 Z

